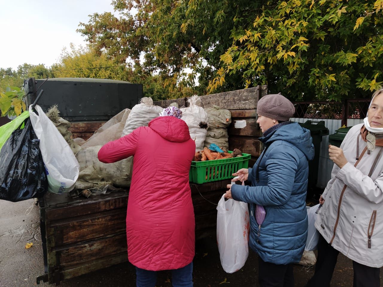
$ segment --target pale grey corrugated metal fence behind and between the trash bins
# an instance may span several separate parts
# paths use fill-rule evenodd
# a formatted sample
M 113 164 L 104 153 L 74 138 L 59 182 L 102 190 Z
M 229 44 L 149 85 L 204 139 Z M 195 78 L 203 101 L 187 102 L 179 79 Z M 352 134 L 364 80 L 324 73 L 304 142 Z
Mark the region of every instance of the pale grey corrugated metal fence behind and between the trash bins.
M 329 135 L 334 134 L 334 132 L 342 126 L 342 120 L 338 119 L 301 119 L 294 117 L 291 118 L 290 121 L 302 123 L 306 121 L 324 121 L 324 126 L 329 129 Z M 325 188 L 327 182 L 331 179 L 331 171 L 334 163 L 329 158 L 328 146 L 329 136 L 325 135 L 322 137 L 321 151 L 319 153 L 318 182 L 316 184 L 318 188 Z

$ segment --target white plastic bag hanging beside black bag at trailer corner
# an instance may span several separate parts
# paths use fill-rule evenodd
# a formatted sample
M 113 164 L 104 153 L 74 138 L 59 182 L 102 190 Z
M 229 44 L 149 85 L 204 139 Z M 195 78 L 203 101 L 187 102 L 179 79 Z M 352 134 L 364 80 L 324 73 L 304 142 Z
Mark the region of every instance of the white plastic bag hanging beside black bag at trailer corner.
M 79 162 L 56 126 L 44 114 L 43 109 L 38 105 L 34 109 L 38 114 L 29 106 L 29 116 L 33 130 L 40 140 L 48 191 L 59 194 L 71 191 L 79 176 Z

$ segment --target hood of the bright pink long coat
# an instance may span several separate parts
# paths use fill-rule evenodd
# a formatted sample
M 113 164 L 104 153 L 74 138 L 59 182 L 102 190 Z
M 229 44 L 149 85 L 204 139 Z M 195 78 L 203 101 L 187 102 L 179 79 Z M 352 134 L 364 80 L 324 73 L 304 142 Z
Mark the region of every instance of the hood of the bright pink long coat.
M 149 127 L 170 142 L 186 142 L 190 139 L 186 122 L 173 116 L 156 117 L 149 122 Z

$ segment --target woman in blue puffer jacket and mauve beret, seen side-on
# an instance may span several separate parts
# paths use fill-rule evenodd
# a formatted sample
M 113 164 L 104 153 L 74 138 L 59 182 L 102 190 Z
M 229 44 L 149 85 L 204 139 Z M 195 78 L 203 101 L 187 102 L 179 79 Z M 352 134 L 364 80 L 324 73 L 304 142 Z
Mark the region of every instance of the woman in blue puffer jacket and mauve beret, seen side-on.
M 257 113 L 264 151 L 253 168 L 233 174 L 238 176 L 233 181 L 249 180 L 251 186 L 229 184 L 225 197 L 250 203 L 249 244 L 259 255 L 260 286 L 293 287 L 293 263 L 300 261 L 307 239 L 308 160 L 314 145 L 309 130 L 288 121 L 295 108 L 280 93 L 261 98 Z M 259 225 L 255 210 L 261 206 L 266 216 Z

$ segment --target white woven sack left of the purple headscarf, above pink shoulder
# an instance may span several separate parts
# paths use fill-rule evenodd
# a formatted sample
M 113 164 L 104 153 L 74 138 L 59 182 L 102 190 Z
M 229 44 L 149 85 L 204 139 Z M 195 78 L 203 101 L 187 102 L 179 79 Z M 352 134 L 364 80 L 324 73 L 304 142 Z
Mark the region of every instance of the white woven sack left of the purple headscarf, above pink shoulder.
M 130 134 L 137 127 L 147 126 L 149 122 L 158 117 L 163 108 L 155 106 L 152 98 L 144 97 L 136 104 L 126 120 L 121 137 Z

